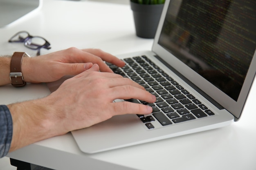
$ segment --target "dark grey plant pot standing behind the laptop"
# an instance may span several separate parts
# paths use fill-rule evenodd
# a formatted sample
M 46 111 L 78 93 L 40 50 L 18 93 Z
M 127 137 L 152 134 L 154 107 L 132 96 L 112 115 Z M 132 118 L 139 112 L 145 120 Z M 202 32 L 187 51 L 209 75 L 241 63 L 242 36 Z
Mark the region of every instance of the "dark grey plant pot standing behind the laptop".
M 165 0 L 130 0 L 136 35 L 154 38 Z

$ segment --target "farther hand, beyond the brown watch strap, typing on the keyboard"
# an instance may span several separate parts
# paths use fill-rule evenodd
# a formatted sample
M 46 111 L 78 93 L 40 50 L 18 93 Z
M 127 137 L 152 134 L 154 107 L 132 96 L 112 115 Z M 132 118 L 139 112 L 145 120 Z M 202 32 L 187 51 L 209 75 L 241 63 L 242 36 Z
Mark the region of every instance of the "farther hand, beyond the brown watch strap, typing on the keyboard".
M 101 72 L 112 70 L 105 64 L 110 62 L 119 67 L 125 65 L 117 57 L 99 49 L 76 49 L 74 47 L 26 58 L 22 63 L 22 74 L 25 82 L 53 82 L 65 75 L 77 75 L 89 69 L 92 64 L 98 64 Z

